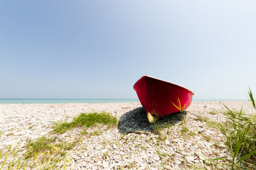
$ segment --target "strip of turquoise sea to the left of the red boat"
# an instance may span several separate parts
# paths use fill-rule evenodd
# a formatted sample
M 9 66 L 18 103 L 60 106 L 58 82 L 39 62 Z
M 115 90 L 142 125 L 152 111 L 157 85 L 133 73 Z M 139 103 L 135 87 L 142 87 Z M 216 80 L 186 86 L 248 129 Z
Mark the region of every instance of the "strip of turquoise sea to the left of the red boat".
M 0 103 L 128 103 L 138 102 L 139 99 L 0 99 Z

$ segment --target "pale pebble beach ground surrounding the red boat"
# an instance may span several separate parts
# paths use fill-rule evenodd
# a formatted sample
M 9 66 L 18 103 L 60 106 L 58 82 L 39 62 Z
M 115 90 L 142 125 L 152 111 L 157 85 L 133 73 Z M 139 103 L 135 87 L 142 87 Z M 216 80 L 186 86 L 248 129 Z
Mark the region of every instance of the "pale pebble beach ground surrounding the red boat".
M 66 160 L 60 162 L 60 168 L 216 169 L 222 166 L 221 161 L 210 164 L 211 159 L 230 155 L 223 134 L 214 127 L 226 121 L 223 104 L 232 110 L 243 106 L 244 113 L 254 113 L 249 101 L 192 102 L 185 115 L 188 132 L 182 132 L 184 121 L 179 114 L 161 118 L 160 125 L 175 121 L 156 132 L 152 131 L 154 125 L 148 124 L 140 103 L 0 104 L 0 149 L 4 155 L 0 168 L 8 169 L 18 160 L 27 161 L 26 169 L 42 167 L 37 160 L 24 159 L 26 144 L 42 136 L 56 136 L 57 141 L 79 138 L 76 146 L 67 151 Z M 52 134 L 54 122 L 70 122 L 80 113 L 102 111 L 115 116 L 118 124 L 110 129 L 92 127 L 90 131 L 103 131 L 90 136 L 81 135 L 81 127 Z M 11 150 L 17 153 L 12 154 Z

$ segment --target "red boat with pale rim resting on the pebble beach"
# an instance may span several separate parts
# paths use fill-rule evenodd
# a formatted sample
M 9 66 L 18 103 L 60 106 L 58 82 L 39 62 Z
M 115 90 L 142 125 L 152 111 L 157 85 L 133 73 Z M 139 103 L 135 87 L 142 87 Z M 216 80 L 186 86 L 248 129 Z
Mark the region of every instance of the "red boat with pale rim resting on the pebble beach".
M 186 110 L 194 95 L 184 87 L 150 76 L 141 77 L 133 89 L 147 111 L 150 123 L 156 122 L 159 117 Z

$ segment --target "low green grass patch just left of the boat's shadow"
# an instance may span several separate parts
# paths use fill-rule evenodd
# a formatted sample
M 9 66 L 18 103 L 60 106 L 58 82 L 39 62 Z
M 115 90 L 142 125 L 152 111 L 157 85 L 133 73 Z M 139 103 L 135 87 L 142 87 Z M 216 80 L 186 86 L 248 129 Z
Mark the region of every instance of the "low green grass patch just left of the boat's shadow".
M 73 118 L 72 122 L 60 122 L 54 124 L 54 132 L 64 133 L 74 127 L 94 127 L 97 124 L 115 125 L 117 123 L 116 117 L 113 117 L 109 113 L 81 113 L 76 118 Z

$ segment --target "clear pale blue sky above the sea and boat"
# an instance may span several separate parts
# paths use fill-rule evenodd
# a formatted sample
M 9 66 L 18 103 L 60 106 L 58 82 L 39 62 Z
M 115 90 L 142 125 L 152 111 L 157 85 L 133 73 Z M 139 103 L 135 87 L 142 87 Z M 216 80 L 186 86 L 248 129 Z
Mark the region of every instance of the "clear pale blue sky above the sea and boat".
M 0 98 L 133 98 L 143 74 L 194 99 L 256 94 L 256 1 L 0 1 Z

